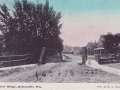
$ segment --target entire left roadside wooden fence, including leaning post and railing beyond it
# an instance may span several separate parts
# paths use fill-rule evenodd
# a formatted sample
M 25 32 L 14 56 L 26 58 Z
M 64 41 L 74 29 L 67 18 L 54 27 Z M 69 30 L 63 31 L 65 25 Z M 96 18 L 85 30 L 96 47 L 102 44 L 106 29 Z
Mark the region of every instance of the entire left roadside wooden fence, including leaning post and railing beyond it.
M 1 67 L 10 67 L 10 66 L 18 66 L 18 65 L 26 65 L 38 63 L 45 64 L 50 61 L 58 61 L 62 60 L 62 54 L 60 50 L 45 48 L 43 47 L 40 57 L 39 55 L 7 55 L 0 56 L 0 68 Z

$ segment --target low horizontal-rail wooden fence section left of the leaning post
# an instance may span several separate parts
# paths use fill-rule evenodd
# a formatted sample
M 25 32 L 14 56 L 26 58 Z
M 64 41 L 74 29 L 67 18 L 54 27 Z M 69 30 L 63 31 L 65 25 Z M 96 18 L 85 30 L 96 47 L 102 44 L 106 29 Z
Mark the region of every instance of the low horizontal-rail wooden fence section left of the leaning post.
M 32 63 L 37 63 L 37 61 L 34 60 L 34 55 L 30 54 L 0 56 L 0 67 L 26 65 Z

